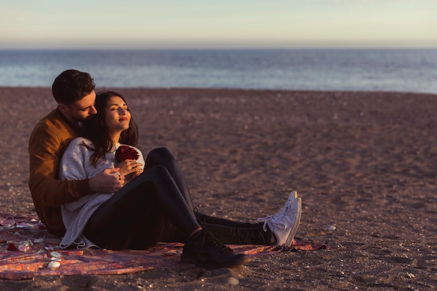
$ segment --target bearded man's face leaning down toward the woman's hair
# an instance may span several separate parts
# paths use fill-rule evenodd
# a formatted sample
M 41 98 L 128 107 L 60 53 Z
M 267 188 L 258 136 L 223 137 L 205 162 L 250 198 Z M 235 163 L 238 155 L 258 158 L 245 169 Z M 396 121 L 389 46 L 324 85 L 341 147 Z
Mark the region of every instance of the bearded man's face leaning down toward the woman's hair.
M 73 124 L 77 121 L 84 121 L 97 113 L 96 107 L 94 107 L 94 102 L 96 101 L 96 92 L 92 91 L 84 98 L 77 100 L 71 104 L 59 104 L 58 108 L 61 110 L 64 117 L 71 121 Z

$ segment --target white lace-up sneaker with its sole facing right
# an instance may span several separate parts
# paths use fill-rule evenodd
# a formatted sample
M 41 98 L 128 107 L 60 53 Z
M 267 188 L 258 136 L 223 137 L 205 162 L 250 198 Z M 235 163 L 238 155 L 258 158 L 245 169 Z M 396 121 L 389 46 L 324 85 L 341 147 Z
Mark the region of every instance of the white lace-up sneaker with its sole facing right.
M 296 191 L 291 191 L 286 204 L 274 215 L 258 218 L 258 222 L 264 223 L 262 228 L 267 231 L 266 225 L 276 237 L 275 246 L 290 247 L 292 240 L 299 227 L 302 215 L 302 200 L 297 197 Z

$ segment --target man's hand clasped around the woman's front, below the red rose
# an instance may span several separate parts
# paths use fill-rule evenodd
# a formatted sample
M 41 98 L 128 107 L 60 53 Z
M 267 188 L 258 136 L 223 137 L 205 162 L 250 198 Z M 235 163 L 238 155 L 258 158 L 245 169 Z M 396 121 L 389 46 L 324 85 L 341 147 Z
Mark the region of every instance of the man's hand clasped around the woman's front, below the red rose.
M 110 167 L 89 179 L 89 187 L 94 192 L 114 193 L 124 184 L 124 176 L 119 174 L 119 167 Z

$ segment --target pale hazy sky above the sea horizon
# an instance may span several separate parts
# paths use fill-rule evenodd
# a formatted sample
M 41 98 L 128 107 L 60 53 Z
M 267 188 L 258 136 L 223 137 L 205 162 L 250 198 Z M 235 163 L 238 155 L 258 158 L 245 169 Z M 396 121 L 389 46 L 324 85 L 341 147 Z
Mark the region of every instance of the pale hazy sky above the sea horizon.
M 0 0 L 0 49 L 437 48 L 437 0 Z

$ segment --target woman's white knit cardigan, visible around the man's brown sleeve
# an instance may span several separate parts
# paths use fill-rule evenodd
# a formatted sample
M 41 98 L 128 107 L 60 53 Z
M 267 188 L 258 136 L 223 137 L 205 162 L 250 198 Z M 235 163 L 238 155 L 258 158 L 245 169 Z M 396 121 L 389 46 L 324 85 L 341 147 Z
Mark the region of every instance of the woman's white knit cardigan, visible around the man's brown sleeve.
M 100 158 L 97 162 L 97 167 L 91 164 L 89 157 L 94 151 L 87 149 L 83 145 L 85 142 L 92 148 L 92 142 L 84 137 L 77 137 L 68 144 L 64 156 L 61 158 L 59 167 L 59 179 L 64 180 L 82 180 L 96 176 L 99 172 L 110 167 L 117 166 L 115 160 L 115 150 L 121 144 L 116 144 L 114 151 L 105 154 L 105 159 Z M 131 147 L 131 146 L 129 146 Z M 142 153 L 136 147 L 133 147 L 140 157 L 138 163 L 145 165 Z M 96 209 L 106 202 L 114 193 L 94 193 L 80 198 L 75 202 L 70 202 L 61 205 L 62 221 L 66 227 L 66 234 L 61 241 L 61 248 L 76 247 L 78 249 L 90 248 L 96 246 L 92 241 L 89 241 L 82 234 L 85 226 L 91 215 Z

